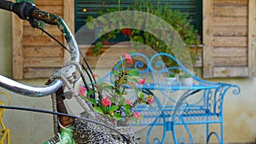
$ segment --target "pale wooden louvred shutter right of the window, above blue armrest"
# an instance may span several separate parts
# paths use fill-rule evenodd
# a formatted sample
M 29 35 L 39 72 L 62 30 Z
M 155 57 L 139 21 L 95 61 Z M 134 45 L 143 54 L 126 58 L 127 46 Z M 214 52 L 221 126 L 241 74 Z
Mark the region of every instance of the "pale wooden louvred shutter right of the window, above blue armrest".
M 255 0 L 203 0 L 204 78 L 255 75 L 254 27 Z

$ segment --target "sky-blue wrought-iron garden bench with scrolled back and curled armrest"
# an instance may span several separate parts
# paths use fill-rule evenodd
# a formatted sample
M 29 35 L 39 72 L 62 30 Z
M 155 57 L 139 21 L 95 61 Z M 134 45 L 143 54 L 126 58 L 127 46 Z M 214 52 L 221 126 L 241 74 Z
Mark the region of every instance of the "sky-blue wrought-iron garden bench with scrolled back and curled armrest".
M 165 143 L 167 131 L 172 131 L 172 138 L 176 144 L 195 143 L 189 124 L 206 125 L 207 143 L 212 135 L 217 137 L 219 143 L 224 143 L 224 95 L 230 88 L 233 88 L 233 94 L 238 95 L 240 88 L 237 85 L 212 83 L 198 78 L 191 72 L 191 67 L 188 69 L 175 57 L 166 53 L 150 56 L 132 53 L 131 56 L 136 62 L 127 69 L 137 68 L 141 77 L 146 79 L 145 84 L 137 87 L 143 89 L 145 94 L 154 95 L 154 107 L 137 107 L 137 111 L 143 115 L 143 119 L 138 121 L 138 126 L 150 126 L 147 143 L 150 143 L 149 138 L 155 126 L 162 126 L 163 132 L 161 138 L 154 138 L 154 143 Z M 166 66 L 166 59 L 172 60 L 176 65 Z M 193 78 L 193 84 L 183 85 L 178 81 L 174 84 L 164 84 L 164 75 L 175 70 Z M 109 72 L 102 80 L 108 79 L 111 82 L 111 75 L 112 72 Z M 219 124 L 219 132 L 210 130 L 210 124 Z M 177 125 L 182 125 L 188 133 L 188 141 L 184 136 L 177 135 Z

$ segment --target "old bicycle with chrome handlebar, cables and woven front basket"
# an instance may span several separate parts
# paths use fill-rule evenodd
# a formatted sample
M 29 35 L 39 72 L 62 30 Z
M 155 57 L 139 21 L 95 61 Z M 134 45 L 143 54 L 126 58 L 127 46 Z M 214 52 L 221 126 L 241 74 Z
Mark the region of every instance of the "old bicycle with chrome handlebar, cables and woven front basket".
M 25 84 L 20 84 L 15 80 L 5 78 L 0 75 L 0 87 L 3 89 L 8 89 L 20 95 L 26 95 L 29 97 L 44 97 L 52 95 L 53 101 L 53 112 L 38 110 L 26 107 L 9 107 L 0 106 L 0 108 L 24 110 L 24 111 L 34 111 L 34 112 L 46 112 L 54 115 L 54 131 L 55 137 L 46 141 L 45 144 L 61 143 L 61 144 L 73 144 L 73 143 L 137 143 L 135 135 L 131 130 L 122 130 L 122 128 L 117 129 L 111 124 L 104 124 L 104 119 L 98 117 L 97 115 L 89 117 L 78 117 L 68 114 L 67 108 L 65 107 L 64 100 L 67 96 L 74 95 L 74 86 L 79 79 L 82 79 L 86 89 L 90 89 L 87 83 L 87 78 L 90 82 L 95 82 L 95 78 L 92 77 L 92 71 L 88 62 L 86 61 L 84 55 L 81 54 L 78 44 L 73 37 L 72 32 L 69 30 L 65 21 L 61 17 L 44 12 L 38 9 L 34 4 L 28 2 L 13 3 L 5 0 L 0 0 L 0 9 L 8 10 L 17 14 L 21 20 L 28 20 L 33 28 L 38 28 L 49 37 L 52 37 L 48 32 L 44 31 L 42 27 L 38 25 L 40 21 L 44 21 L 49 25 L 58 26 L 60 31 L 63 33 L 67 41 L 68 48 L 56 39 L 55 41 L 67 50 L 71 55 L 71 60 L 67 62 L 66 66 L 63 66 L 59 71 L 55 72 L 47 82 L 47 86 L 44 87 L 32 87 Z M 80 64 L 79 55 L 82 55 L 83 60 L 87 67 Z M 87 70 L 88 69 L 88 70 Z M 67 91 L 65 91 L 67 89 Z M 93 96 L 93 95 L 92 95 Z M 79 103 L 80 105 L 86 105 Z M 83 106 L 84 112 L 89 112 L 88 106 Z M 86 114 L 85 114 L 86 115 Z M 87 113 L 88 115 L 88 113 Z M 87 131 L 86 131 L 87 130 Z M 86 132 L 85 135 L 81 134 Z M 89 132 L 88 132 L 89 131 Z M 125 132 L 124 132 L 125 131 Z M 87 138 L 83 139 L 83 136 Z

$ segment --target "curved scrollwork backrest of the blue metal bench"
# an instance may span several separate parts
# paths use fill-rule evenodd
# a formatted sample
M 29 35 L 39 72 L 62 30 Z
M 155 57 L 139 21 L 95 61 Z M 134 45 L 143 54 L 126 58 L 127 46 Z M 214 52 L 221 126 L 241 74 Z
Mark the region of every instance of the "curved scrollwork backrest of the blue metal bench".
M 127 69 L 136 68 L 142 78 L 145 78 L 146 83 L 158 83 L 164 82 L 164 78 L 170 73 L 176 74 L 179 78 L 181 75 L 186 74 L 187 77 L 193 78 L 194 84 L 211 84 L 201 78 L 198 78 L 193 73 L 192 63 L 189 61 L 183 65 L 174 56 L 167 53 L 156 53 L 154 55 L 144 55 L 142 53 L 131 53 L 133 64 L 126 65 Z M 122 59 L 125 60 L 125 59 Z M 120 60 L 115 67 L 117 68 L 120 64 Z M 190 63 L 190 64 L 189 64 Z M 113 71 L 102 77 L 104 82 L 113 82 Z

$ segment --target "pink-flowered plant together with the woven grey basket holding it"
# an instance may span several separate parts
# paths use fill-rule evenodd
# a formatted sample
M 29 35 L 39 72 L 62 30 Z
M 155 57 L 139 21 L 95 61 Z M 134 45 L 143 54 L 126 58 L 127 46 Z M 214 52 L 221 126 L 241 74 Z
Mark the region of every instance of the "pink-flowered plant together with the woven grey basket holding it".
M 125 57 L 120 57 L 120 59 L 113 69 L 112 83 L 108 84 L 99 79 L 99 83 L 91 84 L 89 90 L 86 90 L 84 85 L 80 85 L 77 101 L 80 104 L 83 101 L 85 106 L 85 112 L 82 117 L 108 124 L 108 126 L 127 136 L 131 143 L 138 143 L 136 135 L 131 130 L 130 122 L 133 120 L 138 123 L 138 119 L 143 118 L 135 108 L 139 104 L 151 106 L 154 102 L 154 96 L 144 95 L 142 89 L 137 89 L 136 86 L 144 84 L 145 79 L 139 77 L 137 69 L 126 68 L 129 67 L 127 65 L 133 64 L 131 55 L 125 54 Z M 129 99 L 127 89 L 134 91 L 135 98 Z M 121 141 L 122 138 L 114 135 L 111 130 L 96 124 L 87 124 L 87 122 L 77 120 L 74 129 L 73 137 L 76 140 L 83 140 L 85 143 L 94 143 L 96 141 L 91 140 L 96 140 L 97 138 L 100 138 L 101 140 L 99 141 L 103 141 L 103 143 L 125 143 Z

